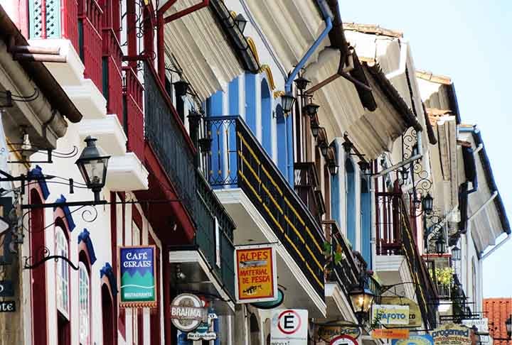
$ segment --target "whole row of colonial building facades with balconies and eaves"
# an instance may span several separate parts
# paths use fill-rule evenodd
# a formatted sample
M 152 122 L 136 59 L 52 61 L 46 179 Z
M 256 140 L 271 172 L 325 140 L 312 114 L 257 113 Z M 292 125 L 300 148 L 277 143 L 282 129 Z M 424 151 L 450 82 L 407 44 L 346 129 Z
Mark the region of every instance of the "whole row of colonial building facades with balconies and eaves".
M 478 129 L 401 33 L 343 23 L 336 0 L 0 5 L 0 163 L 26 176 L 6 194 L 0 344 L 271 344 L 283 309 L 307 311 L 304 344 L 380 344 L 356 288 L 406 299 L 420 332 L 478 317 L 481 258 L 510 227 Z M 75 165 L 92 145 L 94 194 Z M 279 306 L 237 300 L 247 245 L 274 246 Z M 151 306 L 122 300 L 132 246 L 154 246 Z M 183 294 L 215 339 L 176 324 Z

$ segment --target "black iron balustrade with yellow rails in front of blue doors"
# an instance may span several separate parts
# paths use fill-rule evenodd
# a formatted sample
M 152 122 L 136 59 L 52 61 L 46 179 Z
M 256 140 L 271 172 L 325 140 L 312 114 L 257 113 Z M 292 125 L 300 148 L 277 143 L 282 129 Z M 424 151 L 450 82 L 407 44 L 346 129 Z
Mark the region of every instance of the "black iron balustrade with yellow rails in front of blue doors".
M 240 187 L 302 273 L 324 298 L 324 234 L 265 149 L 239 116 L 206 119 L 210 185 Z

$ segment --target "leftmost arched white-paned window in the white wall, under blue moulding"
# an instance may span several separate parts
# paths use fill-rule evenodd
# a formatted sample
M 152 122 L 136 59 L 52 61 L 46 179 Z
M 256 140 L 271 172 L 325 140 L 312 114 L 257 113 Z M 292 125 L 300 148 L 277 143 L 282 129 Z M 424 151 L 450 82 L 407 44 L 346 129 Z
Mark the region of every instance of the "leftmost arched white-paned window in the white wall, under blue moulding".
M 60 226 L 55 228 L 55 252 L 58 256 L 68 258 L 68 239 Z M 57 273 L 57 308 L 69 319 L 69 267 L 68 263 L 58 260 L 55 263 Z

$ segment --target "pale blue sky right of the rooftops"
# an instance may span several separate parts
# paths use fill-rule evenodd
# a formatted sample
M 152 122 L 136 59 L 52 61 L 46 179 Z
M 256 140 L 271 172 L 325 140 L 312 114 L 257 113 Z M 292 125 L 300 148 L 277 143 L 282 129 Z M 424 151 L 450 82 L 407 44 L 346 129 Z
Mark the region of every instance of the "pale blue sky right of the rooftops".
M 477 124 L 512 221 L 512 1 L 339 0 L 346 22 L 404 33 L 416 68 L 452 78 L 462 121 Z M 484 261 L 484 297 L 512 296 L 512 240 Z M 506 273 L 508 272 L 508 273 Z

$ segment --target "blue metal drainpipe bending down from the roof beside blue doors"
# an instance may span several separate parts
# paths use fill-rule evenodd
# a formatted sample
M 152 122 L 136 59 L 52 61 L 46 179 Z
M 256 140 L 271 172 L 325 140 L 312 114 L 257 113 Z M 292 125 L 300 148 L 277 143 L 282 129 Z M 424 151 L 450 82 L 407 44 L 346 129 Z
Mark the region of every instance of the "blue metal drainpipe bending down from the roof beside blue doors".
M 304 67 L 304 65 L 306 65 L 307 60 L 309 59 L 309 57 L 311 57 L 311 55 L 313 55 L 314 51 L 316 50 L 316 48 L 318 48 L 321 41 L 324 40 L 324 38 L 326 38 L 326 36 L 329 34 L 329 31 L 331 31 L 332 18 L 331 18 L 329 6 L 326 4 L 325 0 L 319 0 L 318 4 L 320 7 L 322 16 L 324 16 L 324 21 L 326 23 L 326 27 L 324 28 L 324 31 L 322 31 L 322 33 L 319 35 L 319 37 L 316 38 L 313 45 L 311 45 L 311 47 L 309 47 L 306 54 L 302 57 L 302 59 L 299 61 L 297 66 L 295 66 L 294 70 L 287 78 L 286 84 L 284 84 L 284 92 L 286 92 L 287 94 L 292 94 L 292 82 L 294 81 L 295 77 L 297 77 L 301 68 Z M 284 121 L 285 121 L 285 126 L 287 126 L 287 128 L 289 126 L 287 122 L 291 121 L 292 126 L 289 126 L 289 127 L 292 128 L 292 133 L 293 133 L 293 118 L 291 116 L 286 116 Z M 288 143 L 287 136 L 292 135 L 292 133 L 288 133 L 288 131 L 286 131 L 285 133 L 286 133 L 285 140 Z M 293 141 L 292 141 L 292 150 L 289 150 L 289 148 L 287 148 L 287 163 L 288 163 L 288 182 L 290 182 L 290 184 L 293 187 L 293 184 L 294 184 L 294 182 L 293 182 L 294 181 Z

